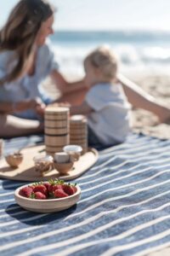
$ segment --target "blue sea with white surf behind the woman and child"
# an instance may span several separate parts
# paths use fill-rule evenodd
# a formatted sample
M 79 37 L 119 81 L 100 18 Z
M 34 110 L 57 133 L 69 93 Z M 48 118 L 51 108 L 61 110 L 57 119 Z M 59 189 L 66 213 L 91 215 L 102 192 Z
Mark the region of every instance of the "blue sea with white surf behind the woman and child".
M 51 37 L 62 73 L 82 76 L 83 58 L 108 45 L 119 58 L 122 73 L 170 73 L 170 32 L 59 31 Z

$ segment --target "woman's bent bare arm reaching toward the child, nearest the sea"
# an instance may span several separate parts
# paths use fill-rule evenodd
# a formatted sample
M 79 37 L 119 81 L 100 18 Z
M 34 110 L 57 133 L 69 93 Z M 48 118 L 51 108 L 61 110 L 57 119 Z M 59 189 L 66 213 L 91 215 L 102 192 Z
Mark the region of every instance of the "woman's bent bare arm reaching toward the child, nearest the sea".
M 59 73 L 57 70 L 54 70 L 51 73 L 50 77 L 51 79 L 53 79 L 54 84 L 56 84 L 57 88 L 61 91 L 63 95 L 86 88 L 86 85 L 83 79 L 77 82 L 69 83 L 65 80 L 62 74 Z

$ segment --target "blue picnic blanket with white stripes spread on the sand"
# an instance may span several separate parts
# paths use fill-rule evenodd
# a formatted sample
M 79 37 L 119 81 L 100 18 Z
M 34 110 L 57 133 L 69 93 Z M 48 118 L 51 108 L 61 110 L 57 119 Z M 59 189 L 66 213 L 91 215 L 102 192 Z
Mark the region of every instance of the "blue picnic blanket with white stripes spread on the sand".
M 75 181 L 76 206 L 37 214 L 15 204 L 23 183 L 1 180 L 0 255 L 139 256 L 170 246 L 170 141 L 132 135 Z

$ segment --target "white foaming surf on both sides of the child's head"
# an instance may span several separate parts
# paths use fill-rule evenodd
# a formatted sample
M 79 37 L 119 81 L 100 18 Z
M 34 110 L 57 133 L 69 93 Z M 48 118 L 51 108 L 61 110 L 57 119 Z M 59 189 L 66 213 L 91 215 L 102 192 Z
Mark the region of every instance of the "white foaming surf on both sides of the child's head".
M 63 73 L 82 76 L 83 59 L 88 53 L 99 45 L 88 46 L 58 46 L 54 45 L 54 53 Z M 120 69 L 127 70 L 148 70 L 156 69 L 156 72 L 169 73 L 170 71 L 170 48 L 158 46 L 137 47 L 133 44 L 111 45 L 116 52 L 120 62 Z

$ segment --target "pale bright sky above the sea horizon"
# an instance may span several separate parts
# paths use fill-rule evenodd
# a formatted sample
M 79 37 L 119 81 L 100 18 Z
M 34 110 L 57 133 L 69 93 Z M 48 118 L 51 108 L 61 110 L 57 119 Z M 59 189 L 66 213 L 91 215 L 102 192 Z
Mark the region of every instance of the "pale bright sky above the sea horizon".
M 18 0 L 0 1 L 0 26 Z M 56 30 L 167 30 L 170 0 L 51 0 Z

